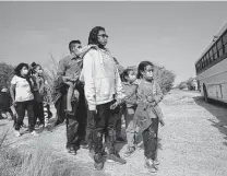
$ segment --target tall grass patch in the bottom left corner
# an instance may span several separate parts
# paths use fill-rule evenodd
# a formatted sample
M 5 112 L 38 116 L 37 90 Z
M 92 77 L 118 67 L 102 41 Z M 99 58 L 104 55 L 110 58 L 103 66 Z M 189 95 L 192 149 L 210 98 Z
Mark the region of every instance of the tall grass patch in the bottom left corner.
M 79 171 L 75 163 L 53 154 L 45 145 L 33 150 L 13 148 L 8 133 L 0 134 L 0 176 L 71 176 Z

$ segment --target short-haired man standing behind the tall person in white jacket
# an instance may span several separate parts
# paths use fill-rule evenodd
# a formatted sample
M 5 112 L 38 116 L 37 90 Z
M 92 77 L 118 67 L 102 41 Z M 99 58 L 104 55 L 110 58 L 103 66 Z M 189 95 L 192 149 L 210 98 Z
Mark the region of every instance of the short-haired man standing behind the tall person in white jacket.
M 59 62 L 53 95 L 58 116 L 56 125 L 67 119 L 67 149 L 73 154 L 76 154 L 85 137 L 86 104 L 79 77 L 82 70 L 81 56 L 91 47 L 81 48 L 80 40 L 70 42 L 70 55 Z

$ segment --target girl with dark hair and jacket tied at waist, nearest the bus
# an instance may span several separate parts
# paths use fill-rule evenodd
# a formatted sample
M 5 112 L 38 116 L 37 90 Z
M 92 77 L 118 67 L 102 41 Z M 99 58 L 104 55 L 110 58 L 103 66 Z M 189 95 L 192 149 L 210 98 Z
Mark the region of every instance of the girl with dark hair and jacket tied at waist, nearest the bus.
M 158 122 L 165 125 L 163 113 L 158 103 L 164 95 L 158 83 L 153 78 L 154 64 L 150 61 L 142 61 L 138 68 L 138 87 L 139 104 L 135 110 L 135 125 L 140 127 L 143 136 L 145 167 L 150 172 L 157 171 L 157 132 Z

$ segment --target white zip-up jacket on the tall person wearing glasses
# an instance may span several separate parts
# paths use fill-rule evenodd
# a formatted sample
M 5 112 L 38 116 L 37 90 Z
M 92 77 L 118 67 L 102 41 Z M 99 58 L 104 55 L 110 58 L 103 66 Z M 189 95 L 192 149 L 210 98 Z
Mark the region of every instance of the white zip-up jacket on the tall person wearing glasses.
M 89 110 L 96 105 L 124 98 L 117 66 L 111 55 L 101 49 L 91 49 L 83 58 L 81 81 L 84 81 L 85 96 Z

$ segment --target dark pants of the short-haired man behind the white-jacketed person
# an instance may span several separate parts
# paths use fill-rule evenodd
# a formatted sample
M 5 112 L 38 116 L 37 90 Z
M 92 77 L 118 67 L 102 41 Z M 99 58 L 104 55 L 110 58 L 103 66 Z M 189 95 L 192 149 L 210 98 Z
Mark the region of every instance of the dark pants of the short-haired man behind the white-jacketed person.
M 80 142 L 85 138 L 87 109 L 83 86 L 76 86 L 80 93 L 79 102 L 72 102 L 74 116 L 67 115 L 67 148 L 80 148 Z M 64 107 L 67 105 L 67 94 L 63 96 Z

